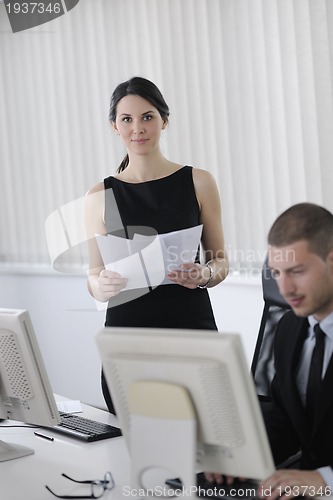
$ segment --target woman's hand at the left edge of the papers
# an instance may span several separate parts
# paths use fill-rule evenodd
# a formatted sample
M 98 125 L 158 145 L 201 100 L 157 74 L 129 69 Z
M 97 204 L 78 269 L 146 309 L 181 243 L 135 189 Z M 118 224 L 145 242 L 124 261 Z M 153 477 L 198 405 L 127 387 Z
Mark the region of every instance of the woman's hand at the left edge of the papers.
M 103 269 L 99 276 L 89 276 L 92 294 L 99 302 L 108 302 L 126 288 L 128 278 L 122 277 L 114 271 Z

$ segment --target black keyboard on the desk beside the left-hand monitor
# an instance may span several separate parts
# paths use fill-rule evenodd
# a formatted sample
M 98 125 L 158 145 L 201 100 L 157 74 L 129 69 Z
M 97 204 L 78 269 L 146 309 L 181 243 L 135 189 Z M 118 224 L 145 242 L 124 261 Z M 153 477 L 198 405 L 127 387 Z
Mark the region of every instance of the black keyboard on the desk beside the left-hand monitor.
M 96 420 L 90 420 L 80 415 L 59 412 L 60 424 L 50 427 L 50 429 L 72 436 L 81 441 L 92 442 L 102 439 L 109 439 L 121 436 L 121 430 L 113 425 L 103 424 Z

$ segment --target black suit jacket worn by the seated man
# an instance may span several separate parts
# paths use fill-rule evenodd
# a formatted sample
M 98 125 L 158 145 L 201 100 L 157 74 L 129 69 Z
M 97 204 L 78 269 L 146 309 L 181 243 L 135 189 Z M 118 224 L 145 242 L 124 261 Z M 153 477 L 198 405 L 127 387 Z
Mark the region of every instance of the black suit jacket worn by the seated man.
M 322 384 L 320 409 L 312 426 L 296 386 L 297 366 L 308 326 L 306 318 L 299 318 L 292 311 L 287 312 L 278 325 L 273 402 L 265 415 L 265 423 L 276 464 L 301 449 L 301 469 L 325 465 L 333 468 L 333 356 Z

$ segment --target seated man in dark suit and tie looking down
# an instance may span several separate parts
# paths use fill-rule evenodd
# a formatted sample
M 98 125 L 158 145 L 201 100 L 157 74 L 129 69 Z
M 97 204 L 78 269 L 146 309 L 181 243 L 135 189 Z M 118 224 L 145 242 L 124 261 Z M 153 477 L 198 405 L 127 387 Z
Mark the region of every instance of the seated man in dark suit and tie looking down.
M 333 215 L 295 205 L 274 222 L 268 244 L 269 267 L 292 310 L 276 332 L 265 423 L 275 463 L 298 450 L 301 459 L 299 470 L 280 469 L 262 481 L 258 495 L 333 494 Z

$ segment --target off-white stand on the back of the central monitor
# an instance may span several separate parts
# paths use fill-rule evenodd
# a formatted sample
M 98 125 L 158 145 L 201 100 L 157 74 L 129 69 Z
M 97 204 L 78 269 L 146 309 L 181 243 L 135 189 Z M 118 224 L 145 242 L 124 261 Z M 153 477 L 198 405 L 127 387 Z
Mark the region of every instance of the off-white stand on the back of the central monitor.
M 129 390 L 131 486 L 139 491 L 147 471 L 157 468 L 179 477 L 183 488 L 196 485 L 197 420 L 185 387 L 139 381 Z M 163 483 L 164 484 L 164 483 Z

